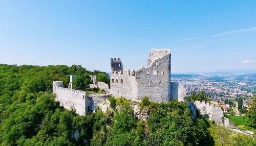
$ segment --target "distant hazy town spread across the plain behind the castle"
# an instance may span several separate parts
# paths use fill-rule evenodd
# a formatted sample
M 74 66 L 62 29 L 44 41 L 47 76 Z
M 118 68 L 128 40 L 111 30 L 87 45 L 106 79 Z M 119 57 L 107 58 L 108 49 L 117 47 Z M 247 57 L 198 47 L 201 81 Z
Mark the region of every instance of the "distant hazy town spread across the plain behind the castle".
M 172 82 L 183 84 L 187 95 L 203 91 L 211 99 L 211 104 L 223 107 L 226 112 L 230 101 L 238 106 L 238 98 L 243 98 L 243 107 L 248 109 L 248 99 L 256 93 L 254 74 L 240 76 L 172 74 Z

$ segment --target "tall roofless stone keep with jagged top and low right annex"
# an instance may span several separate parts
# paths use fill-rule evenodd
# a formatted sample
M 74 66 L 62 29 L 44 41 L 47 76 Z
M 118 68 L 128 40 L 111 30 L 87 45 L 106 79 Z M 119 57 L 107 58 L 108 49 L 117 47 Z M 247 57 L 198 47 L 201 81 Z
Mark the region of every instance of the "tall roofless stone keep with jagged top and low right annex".
M 184 101 L 185 88 L 170 82 L 170 50 L 152 49 L 147 67 L 123 69 L 120 58 L 111 58 L 111 93 L 132 101 L 148 96 L 150 101 Z M 172 94 L 173 92 L 173 94 Z

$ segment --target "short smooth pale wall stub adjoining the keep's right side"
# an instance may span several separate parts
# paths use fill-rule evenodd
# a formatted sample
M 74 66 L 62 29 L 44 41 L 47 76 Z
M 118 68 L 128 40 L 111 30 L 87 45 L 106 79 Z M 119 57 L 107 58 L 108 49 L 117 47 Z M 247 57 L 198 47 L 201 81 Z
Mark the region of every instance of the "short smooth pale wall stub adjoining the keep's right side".
M 171 99 L 176 99 L 179 102 L 184 102 L 186 97 L 186 88 L 180 83 L 171 82 L 170 97 Z

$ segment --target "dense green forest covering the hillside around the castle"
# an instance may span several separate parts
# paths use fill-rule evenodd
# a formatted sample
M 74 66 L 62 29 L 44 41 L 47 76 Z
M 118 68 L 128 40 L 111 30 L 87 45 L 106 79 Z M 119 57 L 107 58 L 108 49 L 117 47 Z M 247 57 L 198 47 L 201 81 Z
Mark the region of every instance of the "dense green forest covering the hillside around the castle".
M 68 86 L 69 76 L 84 87 L 91 82 L 109 83 L 108 75 L 80 65 L 32 66 L 0 64 L 1 145 L 255 145 L 250 136 L 234 134 L 192 112 L 187 102 L 153 103 L 146 98 L 139 106 L 149 112 L 146 122 L 134 115 L 132 104 L 110 98 L 111 109 L 87 116 L 66 110 L 54 101 L 52 81 Z M 190 100 L 207 98 L 190 96 Z M 254 98 L 255 99 L 255 98 Z M 252 105 L 253 106 L 253 105 Z M 253 111 L 254 110 L 254 111 Z M 247 121 L 255 127 L 255 105 Z

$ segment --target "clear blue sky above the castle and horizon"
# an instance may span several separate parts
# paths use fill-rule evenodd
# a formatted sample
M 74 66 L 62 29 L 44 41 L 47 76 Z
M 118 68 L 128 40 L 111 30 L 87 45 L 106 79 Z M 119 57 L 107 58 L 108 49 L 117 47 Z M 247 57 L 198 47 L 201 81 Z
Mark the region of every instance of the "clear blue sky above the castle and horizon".
M 146 66 L 170 48 L 172 72 L 256 69 L 256 1 L 0 1 L 0 63 Z

